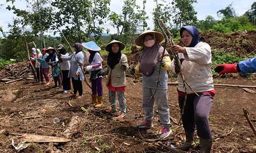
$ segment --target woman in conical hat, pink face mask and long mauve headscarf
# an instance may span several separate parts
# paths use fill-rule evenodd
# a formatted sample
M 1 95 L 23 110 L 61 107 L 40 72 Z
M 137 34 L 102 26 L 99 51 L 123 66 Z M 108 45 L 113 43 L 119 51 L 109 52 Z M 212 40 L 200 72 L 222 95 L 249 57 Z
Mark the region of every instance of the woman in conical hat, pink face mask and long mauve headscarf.
M 161 33 L 151 30 L 145 31 L 137 37 L 135 43 L 142 46 L 143 51 L 140 54 L 140 63 L 135 67 L 135 73 L 142 73 L 142 107 L 145 115 L 145 119 L 137 127 L 153 127 L 154 101 L 157 100 L 159 118 L 162 124 L 160 137 L 166 138 L 172 132 L 169 127 L 167 87 L 167 70 L 170 68 L 171 61 L 167 51 L 163 50 L 163 47 L 159 44 L 163 38 L 164 36 Z M 164 56 L 163 61 L 161 61 L 162 56 Z M 158 79 L 160 79 L 159 84 L 157 83 Z

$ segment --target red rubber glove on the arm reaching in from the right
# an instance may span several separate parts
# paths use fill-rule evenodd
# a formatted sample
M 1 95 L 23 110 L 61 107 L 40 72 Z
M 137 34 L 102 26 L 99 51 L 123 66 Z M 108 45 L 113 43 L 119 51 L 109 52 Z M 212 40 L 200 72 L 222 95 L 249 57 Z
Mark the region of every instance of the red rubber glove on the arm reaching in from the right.
M 219 64 L 214 69 L 216 72 L 218 72 L 220 75 L 225 73 L 238 73 L 238 63 L 233 64 Z

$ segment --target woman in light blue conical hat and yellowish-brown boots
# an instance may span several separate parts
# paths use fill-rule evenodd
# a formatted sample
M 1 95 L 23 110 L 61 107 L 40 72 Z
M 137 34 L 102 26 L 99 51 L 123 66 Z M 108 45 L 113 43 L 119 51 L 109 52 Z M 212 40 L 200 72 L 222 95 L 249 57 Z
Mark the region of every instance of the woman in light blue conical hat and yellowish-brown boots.
M 99 54 L 101 48 L 94 42 L 84 42 L 82 46 L 88 49 L 90 53 L 89 65 L 86 66 L 86 71 L 91 71 L 90 81 L 92 83 L 92 104 L 96 107 L 102 107 L 102 77 L 97 77 L 102 71 L 102 58 Z

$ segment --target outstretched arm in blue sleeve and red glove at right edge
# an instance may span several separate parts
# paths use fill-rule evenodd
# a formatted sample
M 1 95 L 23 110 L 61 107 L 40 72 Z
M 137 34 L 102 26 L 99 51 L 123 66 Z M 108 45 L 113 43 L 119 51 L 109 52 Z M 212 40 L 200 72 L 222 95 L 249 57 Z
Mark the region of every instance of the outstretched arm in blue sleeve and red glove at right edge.
M 256 57 L 233 64 L 219 64 L 214 69 L 220 75 L 225 73 L 254 73 L 256 72 Z

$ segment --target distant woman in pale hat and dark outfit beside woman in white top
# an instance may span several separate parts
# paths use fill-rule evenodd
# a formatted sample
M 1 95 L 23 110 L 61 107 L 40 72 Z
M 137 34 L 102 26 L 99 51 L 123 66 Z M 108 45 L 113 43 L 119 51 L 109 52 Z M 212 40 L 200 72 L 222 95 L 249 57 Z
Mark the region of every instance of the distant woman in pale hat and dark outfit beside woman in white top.
M 48 47 L 46 50 L 46 53 L 48 53 L 49 56 L 45 59 L 45 61 L 52 67 L 52 77 L 54 80 L 54 86 L 55 88 L 60 88 L 61 74 L 60 74 L 59 60 L 57 58 L 56 50 L 53 47 Z

